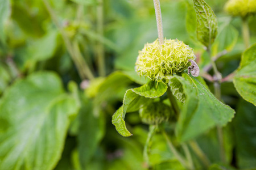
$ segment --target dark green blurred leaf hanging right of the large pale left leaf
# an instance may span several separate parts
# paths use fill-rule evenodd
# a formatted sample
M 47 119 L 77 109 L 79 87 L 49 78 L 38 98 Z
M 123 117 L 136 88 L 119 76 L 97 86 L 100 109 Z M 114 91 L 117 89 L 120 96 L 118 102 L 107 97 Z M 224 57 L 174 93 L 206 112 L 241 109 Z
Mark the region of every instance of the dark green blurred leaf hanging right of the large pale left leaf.
M 92 101 L 81 96 L 82 107 L 78 115 L 78 150 L 82 169 L 85 169 L 105 134 L 105 117 L 102 112 L 93 114 Z

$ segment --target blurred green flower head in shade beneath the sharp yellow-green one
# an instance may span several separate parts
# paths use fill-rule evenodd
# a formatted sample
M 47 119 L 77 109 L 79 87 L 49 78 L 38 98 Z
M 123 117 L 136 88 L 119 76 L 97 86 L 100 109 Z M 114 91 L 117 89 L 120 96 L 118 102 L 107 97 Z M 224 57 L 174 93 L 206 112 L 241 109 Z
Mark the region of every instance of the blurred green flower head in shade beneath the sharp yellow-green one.
M 144 124 L 159 125 L 169 120 L 170 108 L 160 102 L 152 103 L 140 109 L 139 116 Z

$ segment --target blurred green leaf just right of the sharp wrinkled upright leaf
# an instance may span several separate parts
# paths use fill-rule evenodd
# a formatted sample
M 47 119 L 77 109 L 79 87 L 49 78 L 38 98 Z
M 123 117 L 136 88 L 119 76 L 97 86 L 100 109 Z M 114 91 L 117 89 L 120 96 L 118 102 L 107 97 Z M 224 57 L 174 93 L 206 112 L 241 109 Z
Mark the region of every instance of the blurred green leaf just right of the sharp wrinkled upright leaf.
M 212 56 L 216 56 L 218 53 L 223 52 L 224 50 L 230 52 L 234 48 L 234 45 L 236 45 L 237 39 L 237 29 L 230 24 L 225 25 L 212 45 Z

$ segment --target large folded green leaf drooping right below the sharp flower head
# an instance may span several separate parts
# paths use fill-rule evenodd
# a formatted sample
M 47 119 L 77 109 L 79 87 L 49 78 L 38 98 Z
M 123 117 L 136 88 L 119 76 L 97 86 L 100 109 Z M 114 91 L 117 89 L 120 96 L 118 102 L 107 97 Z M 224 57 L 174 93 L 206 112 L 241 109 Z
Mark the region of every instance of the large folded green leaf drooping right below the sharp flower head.
M 183 73 L 182 77 L 174 76 L 170 81 L 179 81 L 186 95 L 176 125 L 180 141 L 195 138 L 216 125 L 224 126 L 232 120 L 234 110 L 216 99 L 196 78 Z

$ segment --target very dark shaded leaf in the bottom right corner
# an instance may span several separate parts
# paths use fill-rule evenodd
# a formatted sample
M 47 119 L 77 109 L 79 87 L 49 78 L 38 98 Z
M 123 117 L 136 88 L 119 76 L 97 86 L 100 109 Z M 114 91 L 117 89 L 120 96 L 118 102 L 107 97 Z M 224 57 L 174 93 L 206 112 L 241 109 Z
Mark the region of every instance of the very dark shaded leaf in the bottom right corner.
M 244 100 L 238 105 L 233 121 L 236 158 L 240 169 L 256 168 L 256 107 Z

